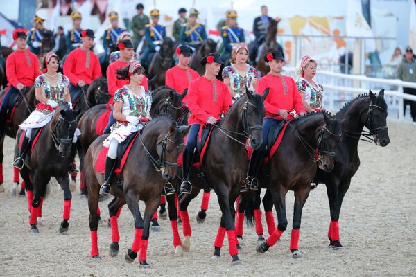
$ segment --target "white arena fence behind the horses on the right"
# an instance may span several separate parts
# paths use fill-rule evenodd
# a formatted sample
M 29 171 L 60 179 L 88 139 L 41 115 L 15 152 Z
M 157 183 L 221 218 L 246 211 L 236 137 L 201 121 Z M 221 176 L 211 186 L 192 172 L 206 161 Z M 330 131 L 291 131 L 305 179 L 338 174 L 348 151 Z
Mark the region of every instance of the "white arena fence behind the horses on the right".
M 295 74 L 295 68 L 285 67 L 284 73 Z M 409 121 L 410 107 L 407 106 L 404 117 L 403 100 L 416 101 L 416 96 L 403 93 L 404 87 L 416 89 L 416 83 L 395 79 L 369 78 L 365 75 L 348 75 L 331 71 L 318 71 L 315 80 L 324 87 L 324 108 L 331 112 L 338 111 L 343 105 L 362 93 L 379 93 L 384 89 L 385 101 L 388 104 L 390 120 Z

